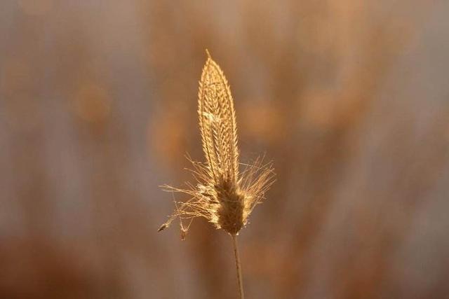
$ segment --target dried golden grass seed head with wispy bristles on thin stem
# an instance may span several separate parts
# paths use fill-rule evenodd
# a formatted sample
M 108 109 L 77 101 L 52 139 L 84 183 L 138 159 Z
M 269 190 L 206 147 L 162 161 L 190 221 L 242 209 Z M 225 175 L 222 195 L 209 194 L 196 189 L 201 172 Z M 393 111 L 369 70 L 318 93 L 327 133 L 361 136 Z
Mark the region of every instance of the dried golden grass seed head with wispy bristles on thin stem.
M 257 158 L 251 165 L 243 165 L 243 172 L 239 172 L 236 115 L 231 90 L 223 71 L 207 50 L 206 53 L 208 58 L 198 94 L 199 127 L 206 162 L 194 162 L 189 158 L 196 185 L 187 183 L 188 188 L 163 186 L 164 190 L 184 193 L 190 198 L 185 202 L 175 202 L 175 211 L 159 231 L 179 218 L 181 238 L 185 239 L 193 218 L 203 217 L 217 229 L 229 233 L 234 247 L 239 294 L 243 298 L 237 235 L 274 182 L 274 173 L 272 164 L 264 164 L 262 158 Z M 189 221 L 187 226 L 182 223 L 186 220 Z

